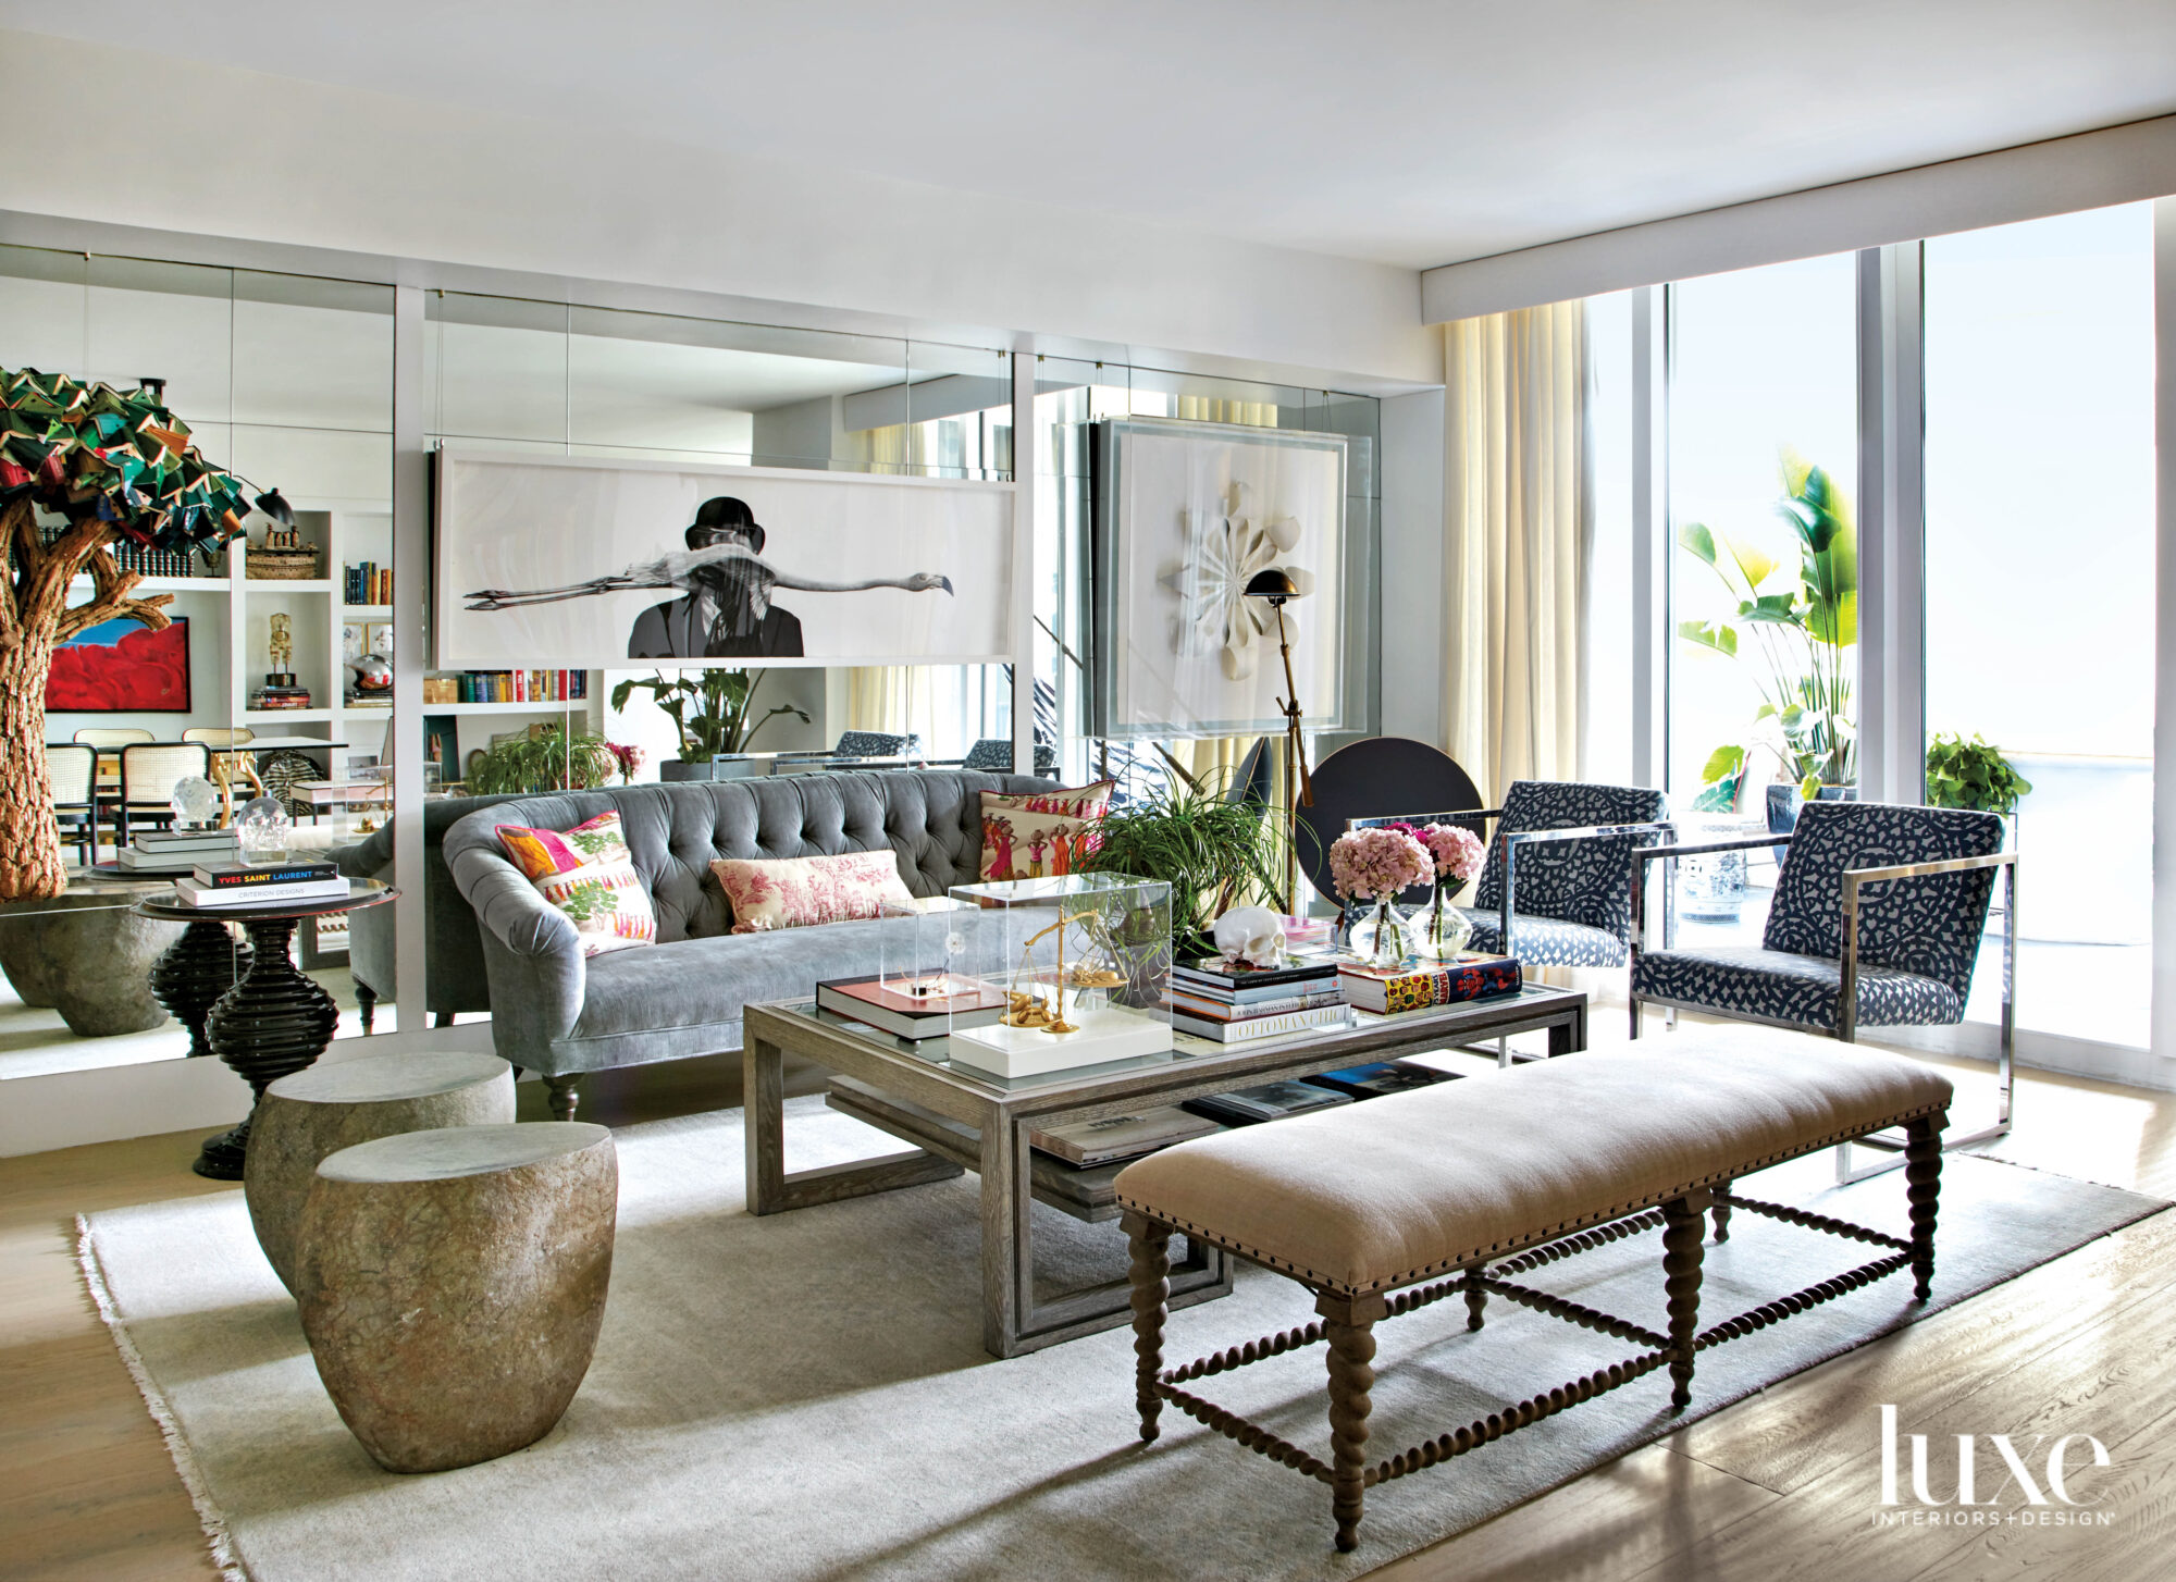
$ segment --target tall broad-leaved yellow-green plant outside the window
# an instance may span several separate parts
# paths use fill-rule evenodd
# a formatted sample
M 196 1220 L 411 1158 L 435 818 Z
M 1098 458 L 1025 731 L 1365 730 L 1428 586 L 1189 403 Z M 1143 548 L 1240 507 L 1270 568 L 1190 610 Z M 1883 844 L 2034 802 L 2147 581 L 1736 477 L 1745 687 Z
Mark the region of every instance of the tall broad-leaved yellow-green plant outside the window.
M 1756 659 L 1756 744 L 1773 751 L 1789 777 L 1813 796 L 1821 786 L 1858 779 L 1850 675 L 1850 648 L 1858 642 L 1858 533 L 1850 500 L 1826 470 L 1784 446 L 1780 474 L 1776 514 L 1795 540 L 1795 577 L 1778 579 L 1782 557 L 1758 544 L 1686 522 L 1678 544 L 1739 601 L 1739 625 L 1682 620 L 1678 638 L 1726 659 Z M 1745 744 L 1713 753 L 1704 773 L 1708 790 L 1695 807 L 1721 812 L 1736 805 L 1745 757 Z

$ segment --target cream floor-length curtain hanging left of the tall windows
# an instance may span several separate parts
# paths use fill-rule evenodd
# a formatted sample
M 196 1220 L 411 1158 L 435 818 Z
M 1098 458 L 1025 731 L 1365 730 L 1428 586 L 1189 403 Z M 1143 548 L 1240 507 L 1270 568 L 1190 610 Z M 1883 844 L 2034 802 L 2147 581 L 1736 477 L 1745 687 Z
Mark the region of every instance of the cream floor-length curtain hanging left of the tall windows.
M 1443 335 L 1443 738 L 1495 803 L 1514 779 L 1580 777 L 1586 305 L 1458 320 Z

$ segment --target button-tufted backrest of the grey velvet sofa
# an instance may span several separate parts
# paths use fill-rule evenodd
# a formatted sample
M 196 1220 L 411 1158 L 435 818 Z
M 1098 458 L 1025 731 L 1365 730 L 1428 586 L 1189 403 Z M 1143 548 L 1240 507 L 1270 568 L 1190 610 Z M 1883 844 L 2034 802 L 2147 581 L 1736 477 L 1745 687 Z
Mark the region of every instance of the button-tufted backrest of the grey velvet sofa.
M 844 770 L 522 796 L 461 818 L 446 833 L 446 860 L 487 851 L 503 862 L 492 833 L 498 825 L 572 829 L 616 807 L 657 910 L 657 940 L 709 938 L 729 927 L 712 857 L 816 857 L 890 846 L 914 894 L 973 883 L 986 790 L 1051 790 L 1051 781 L 962 770 Z

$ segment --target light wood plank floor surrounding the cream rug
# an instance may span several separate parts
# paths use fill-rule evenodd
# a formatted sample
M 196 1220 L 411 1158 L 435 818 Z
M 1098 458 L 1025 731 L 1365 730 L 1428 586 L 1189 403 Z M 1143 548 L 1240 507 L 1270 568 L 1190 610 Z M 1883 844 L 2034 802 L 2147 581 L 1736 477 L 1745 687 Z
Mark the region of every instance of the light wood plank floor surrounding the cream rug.
M 1608 1036 L 1612 1021 L 1602 1016 L 1597 1036 Z M 1958 1062 L 1954 1071 L 1956 1123 L 1978 1125 L 1974 1105 L 1991 1110 L 1991 1079 L 1985 1066 Z M 694 1060 L 609 1073 L 590 1086 L 583 1118 L 625 1125 L 738 1103 L 740 1066 Z M 540 1116 L 540 1101 L 535 1084 L 524 1084 L 522 1114 Z M 1991 1153 L 2176 1197 L 2176 1095 L 2024 1073 L 2017 1114 L 2017 1132 Z M 0 1578 L 215 1578 L 159 1430 L 74 1269 L 78 1212 L 235 1190 L 189 1173 L 198 1140 L 191 1132 L 0 1160 Z M 2176 1212 L 1786 1380 L 1375 1575 L 2176 1575 L 2172 1253 Z M 2006 1432 L 2019 1445 L 2032 1434 L 2095 1434 L 2115 1462 L 2093 1484 L 2109 1488 L 2113 1523 L 1876 1525 L 1882 1401 L 1897 1406 L 1908 1432 L 1934 1436 L 1939 1451 L 1954 1447 L 1954 1434 Z M 1456 1475 L 1458 1467 L 1423 1473 Z M 1327 1549 L 1323 1571 L 1332 1571 Z

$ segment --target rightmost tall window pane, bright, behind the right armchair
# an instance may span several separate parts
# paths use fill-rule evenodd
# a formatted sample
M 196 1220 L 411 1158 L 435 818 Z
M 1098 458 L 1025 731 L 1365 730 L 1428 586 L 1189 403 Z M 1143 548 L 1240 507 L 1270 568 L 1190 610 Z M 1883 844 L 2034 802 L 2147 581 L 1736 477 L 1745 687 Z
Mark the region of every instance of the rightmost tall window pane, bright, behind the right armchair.
M 2024 1027 L 2148 1042 L 2154 224 L 2126 205 L 1926 244 L 1926 725 L 2032 790 Z M 1998 1012 L 1982 957 L 1971 1018 Z

